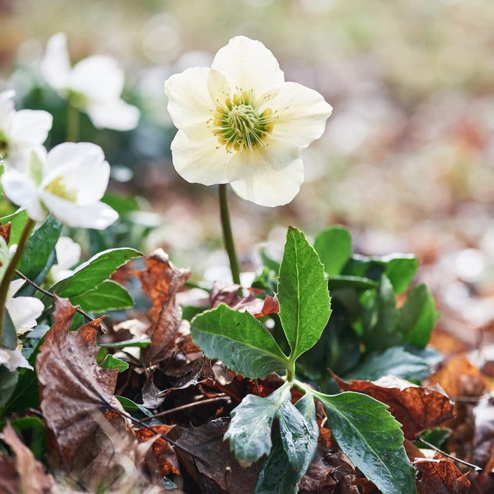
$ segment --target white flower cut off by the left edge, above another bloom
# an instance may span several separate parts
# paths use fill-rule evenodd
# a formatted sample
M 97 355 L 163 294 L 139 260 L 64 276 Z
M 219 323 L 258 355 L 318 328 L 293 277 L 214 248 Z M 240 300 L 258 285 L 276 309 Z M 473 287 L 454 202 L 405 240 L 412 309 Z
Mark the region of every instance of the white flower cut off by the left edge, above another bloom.
M 53 117 L 44 110 L 19 110 L 13 104 L 15 91 L 0 92 L 0 155 L 6 167 L 25 171 L 31 151 L 40 152 L 52 128 Z

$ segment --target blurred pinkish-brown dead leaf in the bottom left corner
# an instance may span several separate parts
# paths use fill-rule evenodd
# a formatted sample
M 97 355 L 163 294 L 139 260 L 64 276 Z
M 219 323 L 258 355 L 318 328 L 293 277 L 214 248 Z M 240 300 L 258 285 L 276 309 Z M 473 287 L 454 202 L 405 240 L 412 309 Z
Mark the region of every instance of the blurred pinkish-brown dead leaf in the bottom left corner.
M 16 459 L 12 461 L 11 458 L 0 456 L 0 491 L 6 494 L 51 493 L 56 486 L 55 479 L 44 473 L 43 465 L 20 441 L 9 422 L 1 437 L 11 447 Z

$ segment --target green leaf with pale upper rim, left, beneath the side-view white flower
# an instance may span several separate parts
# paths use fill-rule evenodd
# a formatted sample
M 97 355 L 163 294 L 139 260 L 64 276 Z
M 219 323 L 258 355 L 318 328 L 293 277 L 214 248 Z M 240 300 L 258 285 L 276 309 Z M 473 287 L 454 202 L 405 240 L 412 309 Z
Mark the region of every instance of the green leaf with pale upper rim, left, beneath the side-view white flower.
M 69 299 L 84 294 L 106 281 L 120 266 L 140 255 L 133 248 L 112 248 L 100 252 L 81 264 L 72 276 L 54 284 L 50 291 Z

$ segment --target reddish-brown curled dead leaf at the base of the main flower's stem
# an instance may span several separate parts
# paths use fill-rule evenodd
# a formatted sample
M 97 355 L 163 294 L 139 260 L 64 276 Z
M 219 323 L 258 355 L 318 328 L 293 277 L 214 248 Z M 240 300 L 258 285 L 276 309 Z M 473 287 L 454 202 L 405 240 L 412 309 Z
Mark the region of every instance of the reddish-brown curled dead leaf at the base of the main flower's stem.
M 255 294 L 264 293 L 262 290 L 248 288 L 247 295 L 239 294 L 241 290 L 243 289 L 238 284 L 216 282 L 210 293 L 211 307 L 215 308 L 220 303 L 226 303 L 227 306 L 237 311 L 249 312 L 256 318 L 279 313 L 279 304 L 275 297 L 267 295 L 265 299 L 258 299 Z

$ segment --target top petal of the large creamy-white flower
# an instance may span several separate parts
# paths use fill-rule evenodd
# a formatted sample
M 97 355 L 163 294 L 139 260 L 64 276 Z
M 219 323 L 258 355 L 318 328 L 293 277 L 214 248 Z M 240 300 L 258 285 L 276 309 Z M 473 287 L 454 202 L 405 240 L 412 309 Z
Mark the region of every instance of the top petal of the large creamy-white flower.
M 236 36 L 220 48 L 211 68 L 223 73 L 232 87 L 253 89 L 258 97 L 284 83 L 275 56 L 260 41 L 245 36 Z

